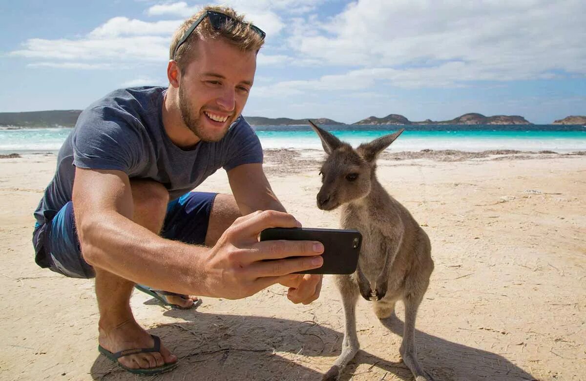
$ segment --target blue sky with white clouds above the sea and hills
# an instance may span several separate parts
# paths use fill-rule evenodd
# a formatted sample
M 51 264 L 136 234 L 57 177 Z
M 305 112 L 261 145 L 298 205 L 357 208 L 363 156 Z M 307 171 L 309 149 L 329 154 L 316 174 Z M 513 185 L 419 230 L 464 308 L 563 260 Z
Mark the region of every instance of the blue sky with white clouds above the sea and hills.
M 0 5 L 0 112 L 83 109 L 168 85 L 171 36 L 213 2 Z M 267 33 L 243 115 L 353 123 L 586 115 L 584 0 L 233 0 Z

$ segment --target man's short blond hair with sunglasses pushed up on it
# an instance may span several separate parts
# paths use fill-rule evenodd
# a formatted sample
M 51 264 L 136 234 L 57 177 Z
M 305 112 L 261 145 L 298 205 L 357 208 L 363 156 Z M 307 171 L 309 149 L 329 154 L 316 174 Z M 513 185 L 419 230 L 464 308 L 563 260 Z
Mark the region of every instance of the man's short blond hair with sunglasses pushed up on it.
M 227 6 L 206 6 L 189 19 L 185 20 L 179 29 L 173 34 L 171 40 L 171 47 L 169 48 L 169 59 L 173 59 L 173 52 L 179 43 L 179 40 L 185 32 L 193 25 L 193 23 L 207 11 L 214 11 L 224 13 L 230 16 L 237 22 L 227 21 L 222 28 L 214 29 L 210 23 L 209 18 L 204 18 L 202 22 L 193 30 L 189 38 L 179 46 L 175 53 L 175 61 L 183 70 L 188 64 L 195 59 L 195 46 L 200 39 L 216 39 L 223 37 L 224 40 L 239 47 L 243 52 L 258 52 L 263 46 L 264 39 L 258 35 L 254 29 L 250 28 L 250 23 L 244 21 L 244 15 L 239 15 L 234 9 Z

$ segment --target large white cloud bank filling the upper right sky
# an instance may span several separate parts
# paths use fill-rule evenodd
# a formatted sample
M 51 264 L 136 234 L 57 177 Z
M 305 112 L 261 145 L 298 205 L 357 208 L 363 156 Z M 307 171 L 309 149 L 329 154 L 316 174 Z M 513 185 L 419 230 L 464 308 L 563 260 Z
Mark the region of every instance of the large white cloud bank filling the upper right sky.
M 522 80 L 547 71 L 586 74 L 578 36 L 586 3 L 565 1 L 381 2 L 359 0 L 321 25 L 297 23 L 289 45 L 324 64 L 365 67 L 422 65 L 464 80 Z M 444 73 L 445 75 L 445 73 Z M 409 74 L 406 74 L 409 77 Z M 449 75 L 448 75 L 449 77 Z M 414 84 L 413 81 L 408 80 Z

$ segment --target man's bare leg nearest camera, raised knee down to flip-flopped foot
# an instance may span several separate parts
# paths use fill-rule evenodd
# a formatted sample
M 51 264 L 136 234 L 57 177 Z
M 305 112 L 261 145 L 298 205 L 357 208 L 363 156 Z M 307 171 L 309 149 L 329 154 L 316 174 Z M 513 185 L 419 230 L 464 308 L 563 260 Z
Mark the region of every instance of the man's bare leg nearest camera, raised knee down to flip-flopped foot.
M 163 225 L 169 194 L 165 187 L 154 181 L 131 181 L 134 215 L 132 220 L 158 234 Z M 124 255 L 124 253 L 121 253 Z M 100 310 L 98 342 L 110 352 L 125 349 L 151 348 L 153 341 L 137 321 L 130 308 L 130 296 L 134 283 L 105 270 L 96 271 L 96 297 Z M 193 301 L 189 301 L 193 303 Z M 154 368 L 177 361 L 165 346 L 161 352 L 139 353 L 120 358 L 128 368 Z

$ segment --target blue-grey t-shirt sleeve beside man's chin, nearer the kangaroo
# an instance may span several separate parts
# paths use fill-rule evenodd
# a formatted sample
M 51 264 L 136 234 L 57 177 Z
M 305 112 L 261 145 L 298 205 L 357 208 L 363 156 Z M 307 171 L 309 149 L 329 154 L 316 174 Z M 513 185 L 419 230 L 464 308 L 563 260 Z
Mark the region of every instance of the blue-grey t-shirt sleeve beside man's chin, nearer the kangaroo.
M 240 120 L 229 131 L 227 156 L 223 168 L 226 171 L 236 168 L 242 164 L 263 163 L 263 147 L 253 128 L 244 118 Z

